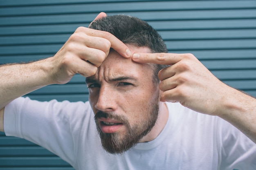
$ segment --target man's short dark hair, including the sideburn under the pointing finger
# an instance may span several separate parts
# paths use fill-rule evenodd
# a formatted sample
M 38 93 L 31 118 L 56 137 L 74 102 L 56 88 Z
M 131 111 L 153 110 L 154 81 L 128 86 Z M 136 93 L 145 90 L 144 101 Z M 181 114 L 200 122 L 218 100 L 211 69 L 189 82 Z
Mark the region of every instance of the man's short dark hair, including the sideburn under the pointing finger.
M 124 44 L 138 47 L 148 47 L 151 53 L 167 53 L 166 45 L 162 37 L 152 26 L 139 18 L 130 15 L 112 15 L 100 18 L 92 22 L 91 29 L 107 31 Z M 158 72 L 165 68 L 164 65 L 153 64 L 155 82 L 159 82 Z

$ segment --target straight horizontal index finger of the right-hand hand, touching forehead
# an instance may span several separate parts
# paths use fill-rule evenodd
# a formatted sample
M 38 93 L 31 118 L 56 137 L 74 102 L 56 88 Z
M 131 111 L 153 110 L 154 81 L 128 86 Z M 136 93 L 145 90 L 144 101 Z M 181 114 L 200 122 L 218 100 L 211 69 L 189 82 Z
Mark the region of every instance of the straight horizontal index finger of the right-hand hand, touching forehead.
M 132 60 L 140 63 L 172 65 L 182 60 L 183 54 L 175 53 L 134 53 Z

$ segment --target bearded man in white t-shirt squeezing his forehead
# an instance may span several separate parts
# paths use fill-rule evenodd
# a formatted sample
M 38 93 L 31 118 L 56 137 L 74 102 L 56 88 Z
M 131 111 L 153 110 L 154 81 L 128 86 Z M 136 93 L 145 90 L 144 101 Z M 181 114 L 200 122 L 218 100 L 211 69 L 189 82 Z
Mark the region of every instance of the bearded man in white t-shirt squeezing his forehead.
M 77 29 L 54 57 L 0 67 L 6 79 L 0 88 L 6 134 L 51 150 L 77 170 L 255 169 L 256 145 L 210 116 L 229 114 L 222 88 L 244 96 L 192 55 L 167 54 L 146 22 L 102 15 L 92 29 Z M 16 99 L 67 83 L 76 73 L 87 77 L 90 104 Z

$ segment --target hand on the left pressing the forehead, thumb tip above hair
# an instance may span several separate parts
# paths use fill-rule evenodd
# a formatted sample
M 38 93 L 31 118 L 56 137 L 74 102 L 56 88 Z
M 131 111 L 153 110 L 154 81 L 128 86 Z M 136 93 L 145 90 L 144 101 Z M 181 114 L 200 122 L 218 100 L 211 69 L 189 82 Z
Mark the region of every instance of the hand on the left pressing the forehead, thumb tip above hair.
M 94 20 L 104 16 L 105 13 L 100 13 Z M 128 47 L 111 33 L 79 27 L 52 58 L 55 66 L 54 83 L 65 84 L 76 73 L 84 77 L 94 75 L 108 56 L 110 48 L 123 57 L 131 56 Z

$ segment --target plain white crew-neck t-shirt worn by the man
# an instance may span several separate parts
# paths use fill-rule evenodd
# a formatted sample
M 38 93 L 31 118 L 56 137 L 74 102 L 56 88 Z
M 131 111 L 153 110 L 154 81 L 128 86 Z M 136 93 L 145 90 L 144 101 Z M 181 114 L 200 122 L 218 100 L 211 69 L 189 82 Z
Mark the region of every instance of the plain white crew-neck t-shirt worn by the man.
M 256 144 L 228 122 L 179 103 L 156 139 L 122 155 L 101 147 L 88 102 L 18 98 L 4 110 L 6 135 L 47 148 L 76 170 L 256 170 Z

